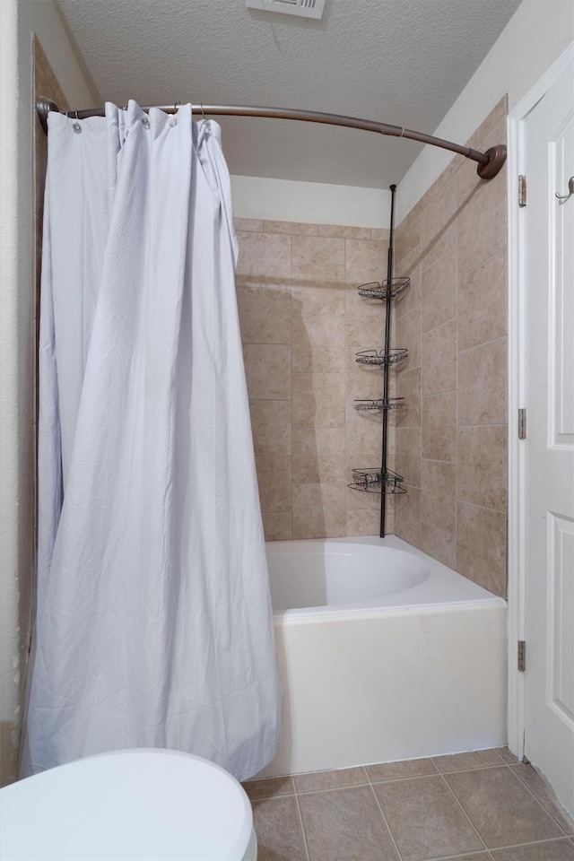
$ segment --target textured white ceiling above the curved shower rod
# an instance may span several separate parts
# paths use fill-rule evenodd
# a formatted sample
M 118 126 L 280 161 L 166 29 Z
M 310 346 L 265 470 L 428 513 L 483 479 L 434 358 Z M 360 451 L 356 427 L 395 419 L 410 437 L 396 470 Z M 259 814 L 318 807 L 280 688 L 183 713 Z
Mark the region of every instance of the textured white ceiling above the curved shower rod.
M 321 22 L 244 0 L 60 5 L 102 100 L 323 110 L 432 133 L 519 2 L 326 0 Z M 354 129 L 219 121 L 230 171 L 245 176 L 388 187 L 420 151 Z

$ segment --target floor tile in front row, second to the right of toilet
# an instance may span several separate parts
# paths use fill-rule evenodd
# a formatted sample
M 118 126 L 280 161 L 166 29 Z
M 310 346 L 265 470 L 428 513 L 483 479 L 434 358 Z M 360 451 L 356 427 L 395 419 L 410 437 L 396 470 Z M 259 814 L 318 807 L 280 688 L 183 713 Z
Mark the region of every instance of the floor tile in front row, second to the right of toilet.
M 310 861 L 396 861 L 370 787 L 300 796 Z

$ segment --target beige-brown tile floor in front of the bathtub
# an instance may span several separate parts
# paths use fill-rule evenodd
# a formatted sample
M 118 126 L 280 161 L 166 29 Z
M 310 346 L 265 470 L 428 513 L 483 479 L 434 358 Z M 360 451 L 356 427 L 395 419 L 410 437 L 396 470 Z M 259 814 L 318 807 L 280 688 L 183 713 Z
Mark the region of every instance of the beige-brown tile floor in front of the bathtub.
M 507 749 L 244 787 L 258 861 L 574 861 L 574 823 Z

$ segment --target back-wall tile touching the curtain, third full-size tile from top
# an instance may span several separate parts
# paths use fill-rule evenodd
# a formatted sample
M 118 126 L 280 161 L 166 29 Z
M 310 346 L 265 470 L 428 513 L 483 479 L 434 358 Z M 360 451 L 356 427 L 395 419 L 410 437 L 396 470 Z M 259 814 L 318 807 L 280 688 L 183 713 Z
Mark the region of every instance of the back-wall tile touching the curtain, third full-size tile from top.
M 291 399 L 291 345 L 243 344 L 250 400 Z

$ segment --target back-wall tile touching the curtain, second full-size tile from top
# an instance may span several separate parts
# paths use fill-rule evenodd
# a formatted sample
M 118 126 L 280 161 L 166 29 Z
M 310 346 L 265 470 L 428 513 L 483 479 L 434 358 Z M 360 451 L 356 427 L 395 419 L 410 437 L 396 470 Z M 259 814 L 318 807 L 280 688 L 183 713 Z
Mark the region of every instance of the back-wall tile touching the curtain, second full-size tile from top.
M 244 344 L 291 344 L 291 287 L 238 287 Z

